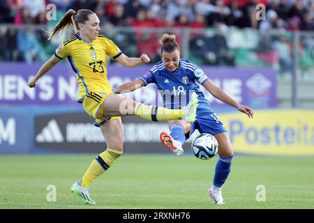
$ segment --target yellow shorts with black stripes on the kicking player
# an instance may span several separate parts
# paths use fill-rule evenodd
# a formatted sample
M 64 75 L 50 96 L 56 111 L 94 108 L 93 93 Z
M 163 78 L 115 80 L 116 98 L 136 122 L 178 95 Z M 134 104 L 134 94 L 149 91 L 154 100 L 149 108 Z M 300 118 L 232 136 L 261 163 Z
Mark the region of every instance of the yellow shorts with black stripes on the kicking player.
M 98 91 L 91 91 L 87 95 L 85 95 L 84 100 L 82 101 L 83 108 L 89 116 L 92 116 L 95 118 L 95 123 L 97 127 L 100 127 L 100 125 L 103 125 L 106 121 L 119 119 L 120 116 L 111 117 L 111 118 L 104 118 L 103 117 L 103 102 L 105 101 L 105 98 L 107 98 L 107 95 L 110 95 L 111 93 L 105 93 L 105 92 L 98 92 Z

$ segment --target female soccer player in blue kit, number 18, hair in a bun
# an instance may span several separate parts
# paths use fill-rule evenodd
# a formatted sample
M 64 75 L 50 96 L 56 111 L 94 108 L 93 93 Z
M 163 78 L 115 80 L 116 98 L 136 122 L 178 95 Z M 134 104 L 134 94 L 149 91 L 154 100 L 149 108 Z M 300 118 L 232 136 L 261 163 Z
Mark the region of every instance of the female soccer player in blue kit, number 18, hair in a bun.
M 223 201 L 221 188 L 231 171 L 232 146 L 225 126 L 211 109 L 209 101 L 204 98 L 198 84 L 202 84 L 215 98 L 237 108 L 240 112 L 244 112 L 249 118 L 253 118 L 253 109 L 232 100 L 223 90 L 212 84 L 207 75 L 197 65 L 187 59 L 180 59 L 180 49 L 174 35 L 164 34 L 160 43 L 162 45 L 160 54 L 162 61 L 156 63 L 151 70 L 139 79 L 123 84 L 114 91 L 124 93 L 155 83 L 158 90 L 163 92 L 164 106 L 170 109 L 186 105 L 190 100 L 190 95 L 193 92 L 197 93 L 199 102 L 196 121 L 194 123 L 186 123 L 180 120 L 168 121 L 171 133 L 161 132 L 160 141 L 163 146 L 171 149 L 177 155 L 181 155 L 183 154 L 182 144 L 195 129 L 199 130 L 200 133 L 213 134 L 218 141 L 220 158 L 216 164 L 214 182 L 209 187 L 208 195 L 214 199 L 216 204 L 223 204 L 225 202 Z

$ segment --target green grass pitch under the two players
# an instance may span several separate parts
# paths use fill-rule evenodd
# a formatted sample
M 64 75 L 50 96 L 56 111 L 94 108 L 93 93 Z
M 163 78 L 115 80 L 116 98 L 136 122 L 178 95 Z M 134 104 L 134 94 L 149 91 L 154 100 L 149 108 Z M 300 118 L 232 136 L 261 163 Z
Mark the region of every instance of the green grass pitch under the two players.
M 95 154 L 96 155 L 96 154 Z M 218 157 L 124 154 L 91 185 L 96 206 L 70 186 L 95 155 L 1 155 L 0 208 L 314 208 L 314 157 L 235 155 L 223 187 L 225 206 L 207 198 Z M 55 185 L 57 201 L 47 201 Z M 265 201 L 257 201 L 264 185 Z

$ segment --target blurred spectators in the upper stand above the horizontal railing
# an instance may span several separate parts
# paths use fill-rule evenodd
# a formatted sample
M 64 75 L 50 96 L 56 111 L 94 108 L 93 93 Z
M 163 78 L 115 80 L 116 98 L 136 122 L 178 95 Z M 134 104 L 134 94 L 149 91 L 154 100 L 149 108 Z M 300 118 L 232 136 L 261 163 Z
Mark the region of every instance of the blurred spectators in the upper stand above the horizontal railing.
M 46 6 L 94 10 L 100 22 L 114 26 L 204 28 L 220 23 L 252 27 L 313 31 L 313 0 L 0 0 L 0 22 L 46 24 Z M 267 20 L 257 21 L 258 3 L 267 6 Z

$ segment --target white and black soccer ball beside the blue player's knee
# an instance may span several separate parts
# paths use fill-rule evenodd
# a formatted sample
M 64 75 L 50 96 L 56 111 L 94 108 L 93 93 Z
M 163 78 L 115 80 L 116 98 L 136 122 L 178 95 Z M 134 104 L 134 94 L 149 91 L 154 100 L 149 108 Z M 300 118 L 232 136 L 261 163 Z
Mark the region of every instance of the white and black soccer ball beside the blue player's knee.
M 209 160 L 218 152 L 218 141 L 212 134 L 202 133 L 192 141 L 193 154 L 201 160 Z

